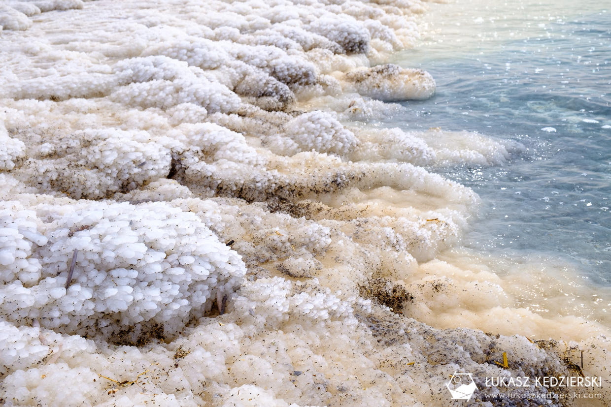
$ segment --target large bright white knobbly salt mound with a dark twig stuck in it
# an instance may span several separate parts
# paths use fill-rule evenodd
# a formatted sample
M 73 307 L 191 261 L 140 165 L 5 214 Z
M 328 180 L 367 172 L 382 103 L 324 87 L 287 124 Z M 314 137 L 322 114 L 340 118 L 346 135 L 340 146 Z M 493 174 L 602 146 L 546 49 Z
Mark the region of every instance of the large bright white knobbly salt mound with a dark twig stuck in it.
M 35 214 L 19 206 L 1 214 L 2 264 L 17 279 L 3 275 L 0 315 L 14 323 L 40 319 L 45 328 L 108 337 L 150 322 L 174 334 L 246 272 L 196 215 L 164 203 L 40 204 Z

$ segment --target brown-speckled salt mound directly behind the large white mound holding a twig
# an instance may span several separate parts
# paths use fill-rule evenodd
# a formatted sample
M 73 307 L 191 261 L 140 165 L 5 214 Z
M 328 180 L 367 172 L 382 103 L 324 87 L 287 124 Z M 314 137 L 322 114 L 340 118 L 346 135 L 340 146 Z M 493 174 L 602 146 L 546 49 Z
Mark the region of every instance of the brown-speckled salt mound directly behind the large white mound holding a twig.
M 16 178 L 41 192 L 96 199 L 156 181 L 170 170 L 169 150 L 145 131 L 87 129 L 55 141 L 57 158 L 29 158 L 15 171 Z

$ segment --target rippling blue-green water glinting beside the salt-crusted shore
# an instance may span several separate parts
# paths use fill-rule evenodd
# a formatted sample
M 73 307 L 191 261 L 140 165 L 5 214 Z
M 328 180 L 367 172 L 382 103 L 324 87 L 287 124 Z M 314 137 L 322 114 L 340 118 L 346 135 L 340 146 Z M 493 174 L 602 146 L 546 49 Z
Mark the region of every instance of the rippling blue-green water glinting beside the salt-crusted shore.
M 429 71 L 437 93 L 404 103 L 409 113 L 387 124 L 524 144 L 501 167 L 442 170 L 483 200 L 463 245 L 500 258 L 563 259 L 611 286 L 608 2 L 476 3 L 432 6 L 448 8 L 444 24 L 425 23 L 423 45 L 395 62 Z

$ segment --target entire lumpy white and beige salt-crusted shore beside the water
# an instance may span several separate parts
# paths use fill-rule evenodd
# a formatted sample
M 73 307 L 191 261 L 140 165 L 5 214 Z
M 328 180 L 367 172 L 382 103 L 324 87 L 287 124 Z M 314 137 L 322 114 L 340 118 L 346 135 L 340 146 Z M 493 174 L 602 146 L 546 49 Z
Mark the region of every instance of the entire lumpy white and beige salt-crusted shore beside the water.
M 538 314 L 543 277 L 452 251 L 479 198 L 430 171 L 522 146 L 375 123 L 434 92 L 387 64 L 423 11 L 0 2 L 0 404 L 446 406 L 459 371 L 465 405 L 579 372 L 607 405 L 590 302 Z

